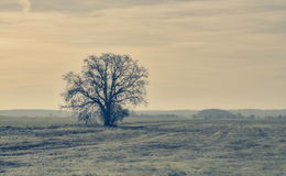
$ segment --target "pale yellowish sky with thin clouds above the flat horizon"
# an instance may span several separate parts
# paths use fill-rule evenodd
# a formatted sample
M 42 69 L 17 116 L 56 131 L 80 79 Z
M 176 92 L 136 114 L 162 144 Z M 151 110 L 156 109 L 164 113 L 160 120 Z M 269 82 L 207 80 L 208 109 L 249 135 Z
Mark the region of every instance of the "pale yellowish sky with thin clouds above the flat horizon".
M 285 0 L 0 0 L 0 109 L 57 109 L 90 54 L 150 70 L 140 109 L 286 108 Z

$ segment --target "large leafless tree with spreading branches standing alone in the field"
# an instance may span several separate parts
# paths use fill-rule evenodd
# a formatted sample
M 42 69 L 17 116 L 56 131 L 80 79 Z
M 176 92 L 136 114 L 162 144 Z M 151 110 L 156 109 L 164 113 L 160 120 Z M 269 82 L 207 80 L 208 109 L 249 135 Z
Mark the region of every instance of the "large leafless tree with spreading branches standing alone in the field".
M 105 127 L 116 127 L 129 116 L 127 107 L 146 102 L 147 70 L 128 55 L 91 55 L 80 74 L 64 75 L 66 106 L 89 123 L 99 117 Z

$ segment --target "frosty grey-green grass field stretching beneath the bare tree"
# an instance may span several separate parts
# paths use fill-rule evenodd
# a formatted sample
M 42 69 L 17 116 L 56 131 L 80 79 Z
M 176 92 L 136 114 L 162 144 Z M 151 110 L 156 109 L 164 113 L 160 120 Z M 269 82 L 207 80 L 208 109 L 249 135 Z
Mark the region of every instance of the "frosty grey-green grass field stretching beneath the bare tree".
M 286 175 L 286 120 L 0 118 L 0 175 Z

